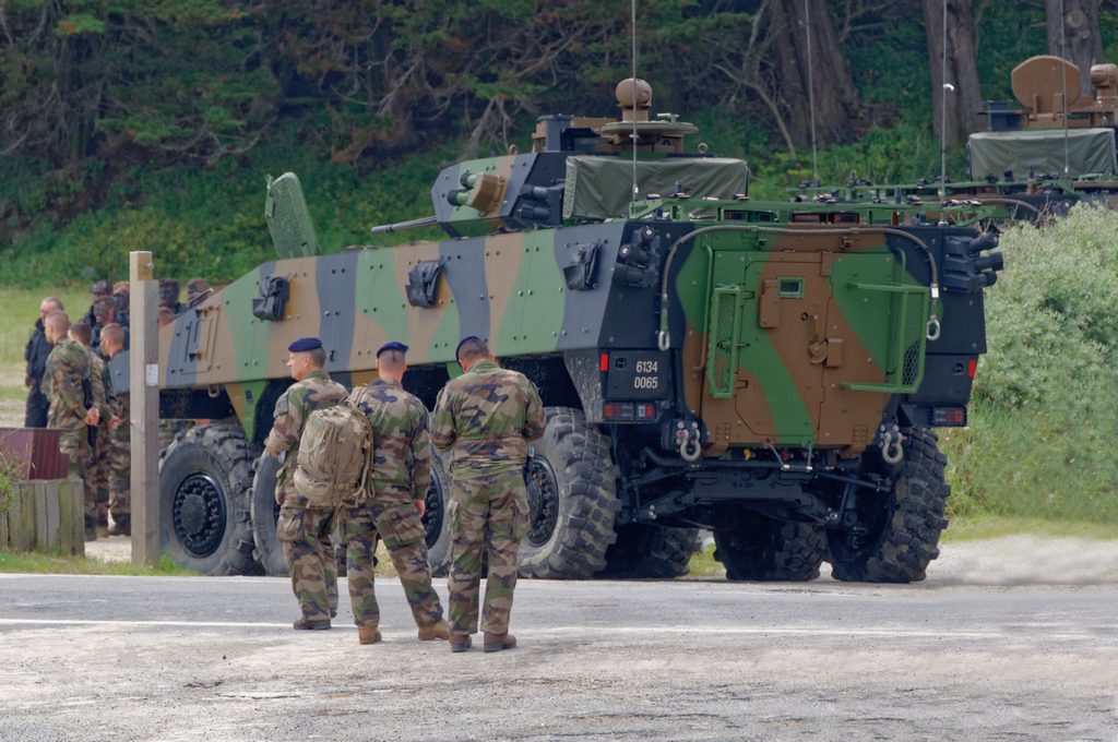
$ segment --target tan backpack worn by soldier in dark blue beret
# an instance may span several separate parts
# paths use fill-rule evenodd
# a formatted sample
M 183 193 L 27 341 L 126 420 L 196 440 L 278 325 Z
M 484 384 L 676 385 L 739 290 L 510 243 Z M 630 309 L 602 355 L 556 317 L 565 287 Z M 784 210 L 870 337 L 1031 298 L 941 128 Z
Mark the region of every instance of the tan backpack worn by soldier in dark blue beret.
M 364 487 L 372 467 L 372 426 L 354 400 L 314 410 L 299 441 L 295 491 L 312 507 L 338 506 Z

